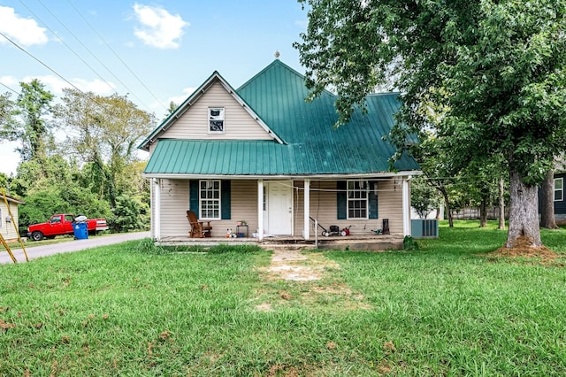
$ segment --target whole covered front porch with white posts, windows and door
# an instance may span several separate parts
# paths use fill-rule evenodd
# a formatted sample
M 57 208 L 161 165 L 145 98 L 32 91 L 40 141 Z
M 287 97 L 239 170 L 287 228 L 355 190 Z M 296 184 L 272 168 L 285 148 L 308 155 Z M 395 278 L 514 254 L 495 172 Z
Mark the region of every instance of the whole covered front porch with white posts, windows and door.
M 157 243 L 301 242 L 305 247 L 349 249 L 349 243 L 356 241 L 382 244 L 381 250 L 396 249 L 410 235 L 409 180 L 406 173 L 152 177 L 152 238 Z M 198 213 L 200 221 L 210 221 L 210 237 L 189 238 L 187 210 Z M 243 221 L 246 225 L 241 227 Z M 385 230 L 381 228 L 386 224 L 389 235 L 379 235 L 376 231 Z M 340 233 L 348 229 L 349 235 L 323 236 L 323 230 L 331 227 Z M 240 237 L 226 238 L 233 233 Z M 374 247 L 378 246 L 364 246 L 365 250 Z

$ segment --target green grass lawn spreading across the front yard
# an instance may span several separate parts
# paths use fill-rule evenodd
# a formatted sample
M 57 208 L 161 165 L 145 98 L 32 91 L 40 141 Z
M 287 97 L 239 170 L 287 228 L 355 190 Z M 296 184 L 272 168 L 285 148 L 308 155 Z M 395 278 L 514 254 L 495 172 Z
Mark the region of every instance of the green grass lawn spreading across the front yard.
M 0 375 L 565 375 L 564 258 L 487 257 L 507 233 L 455 224 L 310 253 L 310 282 L 268 278 L 268 251 L 148 240 L 0 265 Z M 542 238 L 566 255 L 564 229 Z

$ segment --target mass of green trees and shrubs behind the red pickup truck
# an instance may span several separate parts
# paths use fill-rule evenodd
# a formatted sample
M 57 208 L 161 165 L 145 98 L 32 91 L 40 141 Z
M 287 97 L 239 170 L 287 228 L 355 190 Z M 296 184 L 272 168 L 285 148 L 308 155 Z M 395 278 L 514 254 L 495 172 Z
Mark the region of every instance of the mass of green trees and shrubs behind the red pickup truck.
M 25 201 L 20 226 L 68 212 L 105 217 L 114 231 L 147 228 L 149 185 L 135 146 L 154 115 L 126 96 L 64 89 L 56 100 L 41 81 L 20 87 L 16 101 L 0 95 L 0 139 L 19 141 L 22 158 L 15 177 L 0 174 L 0 187 Z M 53 138 L 56 126 L 64 141 Z

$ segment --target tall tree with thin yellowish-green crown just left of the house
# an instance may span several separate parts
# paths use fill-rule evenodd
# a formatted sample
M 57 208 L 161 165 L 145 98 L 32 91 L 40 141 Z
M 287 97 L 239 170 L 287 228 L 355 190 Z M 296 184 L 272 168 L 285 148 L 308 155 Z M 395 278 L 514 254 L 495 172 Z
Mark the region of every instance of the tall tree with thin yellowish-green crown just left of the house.
M 96 96 L 69 88 L 64 93 L 57 119 L 70 130 L 68 144 L 73 155 L 91 164 L 89 169 L 98 184 L 93 190 L 114 208 L 116 198 L 131 187 L 123 177 L 137 161 L 137 143 L 153 129 L 155 117 L 138 109 L 126 96 Z

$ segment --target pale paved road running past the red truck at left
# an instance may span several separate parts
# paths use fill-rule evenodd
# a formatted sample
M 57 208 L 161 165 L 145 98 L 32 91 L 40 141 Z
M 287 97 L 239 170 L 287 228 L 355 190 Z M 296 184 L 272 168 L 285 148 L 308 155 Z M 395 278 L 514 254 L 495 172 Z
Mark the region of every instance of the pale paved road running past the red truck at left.
M 78 250 L 85 250 L 96 248 L 97 246 L 111 245 L 119 242 L 126 242 L 131 240 L 141 240 L 142 238 L 149 237 L 149 232 L 136 232 L 136 233 L 126 233 L 120 235 L 104 235 L 104 236 L 94 236 L 88 237 L 87 240 L 73 240 L 69 242 L 55 243 L 45 246 L 34 246 L 26 248 L 27 257 L 31 260 L 34 258 L 46 257 L 53 254 L 58 254 L 62 252 L 71 252 Z M 32 242 L 32 241 L 30 241 Z M 18 263 L 26 262 L 26 256 L 24 251 L 21 249 L 12 250 L 14 257 Z M 0 251 L 0 264 L 3 263 L 13 263 L 11 261 L 10 255 L 7 251 Z

